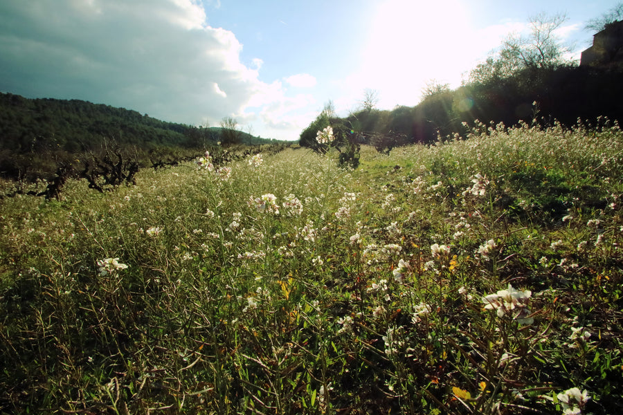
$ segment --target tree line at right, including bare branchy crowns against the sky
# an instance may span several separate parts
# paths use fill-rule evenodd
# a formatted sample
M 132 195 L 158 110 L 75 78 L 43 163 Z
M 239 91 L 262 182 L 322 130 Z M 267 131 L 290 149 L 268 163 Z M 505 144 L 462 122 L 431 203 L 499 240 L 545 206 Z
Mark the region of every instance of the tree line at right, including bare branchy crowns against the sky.
M 617 23 L 617 6 L 587 28 L 602 30 Z M 613 20 L 614 19 L 614 20 Z M 507 126 L 518 122 L 575 124 L 578 119 L 623 120 L 623 64 L 579 66 L 565 59 L 566 48 L 555 36 L 564 15 L 536 15 L 528 36 L 510 35 L 458 89 L 429 83 L 415 107 L 375 109 L 378 97 L 365 91 L 359 110 L 340 118 L 329 102 L 300 134 L 300 145 L 318 149 L 316 131 L 332 125 L 336 147 L 374 145 L 388 152 L 410 143 L 429 144 L 439 138 L 464 136 L 476 120 Z

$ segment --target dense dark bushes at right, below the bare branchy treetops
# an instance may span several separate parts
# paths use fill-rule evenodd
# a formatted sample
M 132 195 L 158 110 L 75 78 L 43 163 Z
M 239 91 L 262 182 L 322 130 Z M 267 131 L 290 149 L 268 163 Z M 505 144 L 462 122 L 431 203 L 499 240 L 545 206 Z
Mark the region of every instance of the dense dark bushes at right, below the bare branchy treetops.
M 300 144 L 319 150 L 316 133 L 329 123 L 350 127 L 356 142 L 388 152 L 414 142 L 432 144 L 440 137 L 465 136 L 465 124 L 473 126 L 474 120 L 487 126 L 558 120 L 572 127 L 578 118 L 595 122 L 603 114 L 620 121 L 622 79 L 616 68 L 576 66 L 523 68 L 508 76 L 483 75 L 482 80 L 454 91 L 432 93 L 415 107 L 363 110 L 346 118 L 321 113 L 301 133 Z

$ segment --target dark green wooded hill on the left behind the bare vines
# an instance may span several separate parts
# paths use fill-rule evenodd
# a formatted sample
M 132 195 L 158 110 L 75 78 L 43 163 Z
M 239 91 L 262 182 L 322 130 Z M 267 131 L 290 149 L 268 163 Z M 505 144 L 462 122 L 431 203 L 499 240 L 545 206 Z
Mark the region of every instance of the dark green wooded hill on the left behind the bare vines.
M 175 163 L 217 142 L 276 142 L 221 127 L 165 122 L 124 108 L 81 100 L 28 99 L 0 93 L 0 176 L 46 177 L 76 167 L 80 154 L 131 151 L 141 166 Z

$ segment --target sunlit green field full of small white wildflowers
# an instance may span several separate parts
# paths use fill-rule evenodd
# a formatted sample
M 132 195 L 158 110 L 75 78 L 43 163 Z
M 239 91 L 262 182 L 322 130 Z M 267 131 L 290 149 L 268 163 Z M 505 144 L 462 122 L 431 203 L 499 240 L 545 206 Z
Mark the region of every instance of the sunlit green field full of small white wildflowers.
M 623 132 L 0 201 L 0 412 L 623 413 Z

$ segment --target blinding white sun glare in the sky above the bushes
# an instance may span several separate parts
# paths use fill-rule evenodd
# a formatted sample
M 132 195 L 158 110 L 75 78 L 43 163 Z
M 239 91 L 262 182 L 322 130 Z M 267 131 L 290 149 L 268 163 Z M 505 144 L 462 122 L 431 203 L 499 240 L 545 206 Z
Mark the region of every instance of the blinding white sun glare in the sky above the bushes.
M 432 79 L 458 85 L 457 66 L 471 60 L 470 14 L 458 0 L 388 0 L 375 12 L 369 33 L 365 81 L 383 91 L 381 101 L 389 106 L 417 103 Z

